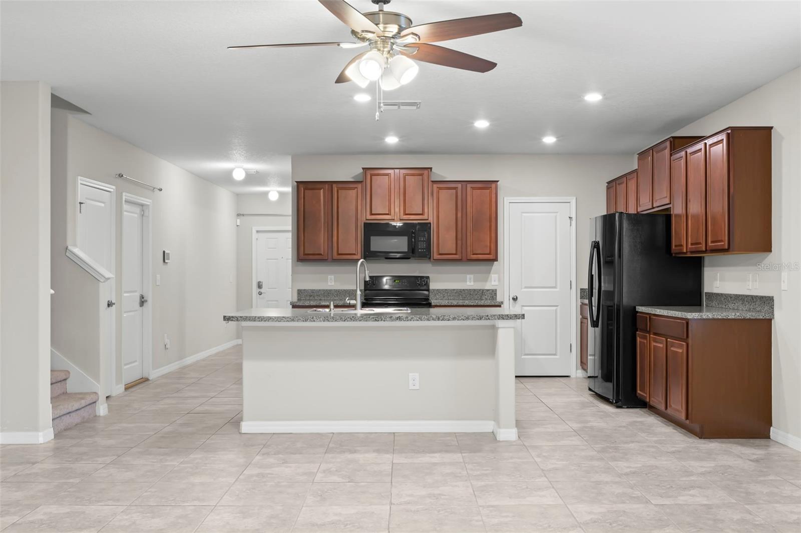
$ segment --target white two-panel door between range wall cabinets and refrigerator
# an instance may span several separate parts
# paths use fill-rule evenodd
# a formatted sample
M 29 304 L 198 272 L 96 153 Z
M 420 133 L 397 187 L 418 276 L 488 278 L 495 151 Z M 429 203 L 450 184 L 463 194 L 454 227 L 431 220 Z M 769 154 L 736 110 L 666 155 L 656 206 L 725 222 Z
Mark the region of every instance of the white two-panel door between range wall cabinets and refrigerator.
M 570 202 L 509 203 L 509 309 L 525 319 L 517 375 L 571 375 Z

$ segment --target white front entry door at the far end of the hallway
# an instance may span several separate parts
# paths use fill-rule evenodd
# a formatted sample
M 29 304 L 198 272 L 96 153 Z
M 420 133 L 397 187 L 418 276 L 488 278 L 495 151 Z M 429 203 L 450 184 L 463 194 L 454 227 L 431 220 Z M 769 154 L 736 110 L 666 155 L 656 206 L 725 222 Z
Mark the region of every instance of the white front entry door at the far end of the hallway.
M 292 300 L 292 232 L 256 232 L 256 307 L 288 308 Z

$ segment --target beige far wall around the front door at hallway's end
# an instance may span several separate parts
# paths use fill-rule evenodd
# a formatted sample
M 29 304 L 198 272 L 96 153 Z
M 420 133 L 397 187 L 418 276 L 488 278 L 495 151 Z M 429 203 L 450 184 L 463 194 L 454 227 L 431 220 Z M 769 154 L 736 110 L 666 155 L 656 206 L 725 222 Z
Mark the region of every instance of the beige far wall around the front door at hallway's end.
M 292 223 L 292 195 L 280 193 L 273 202 L 267 193 L 237 194 L 236 212 L 267 216 L 239 217 L 236 227 L 236 308 L 253 307 L 253 228 L 289 227 Z

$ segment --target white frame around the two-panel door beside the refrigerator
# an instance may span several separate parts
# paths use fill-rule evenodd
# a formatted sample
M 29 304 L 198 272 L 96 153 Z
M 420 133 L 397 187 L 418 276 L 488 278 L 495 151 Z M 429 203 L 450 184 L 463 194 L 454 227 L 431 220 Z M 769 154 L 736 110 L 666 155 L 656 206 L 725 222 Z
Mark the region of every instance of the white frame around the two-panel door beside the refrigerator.
M 506 310 L 509 311 L 509 207 L 513 203 L 570 203 L 570 355 L 573 363 L 570 365 L 570 377 L 576 377 L 576 367 L 578 366 L 578 346 L 576 339 L 576 318 L 578 316 L 576 294 L 576 197 L 575 196 L 532 196 L 532 197 L 513 197 L 504 198 L 503 201 L 503 290 Z M 522 343 L 517 345 L 517 355 L 519 358 L 523 347 Z

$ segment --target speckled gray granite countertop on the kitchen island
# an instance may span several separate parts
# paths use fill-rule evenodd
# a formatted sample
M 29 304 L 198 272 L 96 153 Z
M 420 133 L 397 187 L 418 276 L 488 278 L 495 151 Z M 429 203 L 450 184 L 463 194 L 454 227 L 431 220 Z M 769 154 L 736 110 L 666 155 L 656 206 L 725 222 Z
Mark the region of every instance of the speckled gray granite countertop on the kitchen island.
M 449 309 L 413 309 L 411 313 L 309 313 L 308 309 L 248 309 L 223 315 L 225 322 L 277 322 L 277 323 L 326 323 L 326 322 L 467 322 L 475 320 L 522 320 L 525 315 L 501 309 L 482 307 L 453 307 Z

